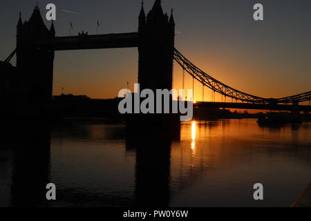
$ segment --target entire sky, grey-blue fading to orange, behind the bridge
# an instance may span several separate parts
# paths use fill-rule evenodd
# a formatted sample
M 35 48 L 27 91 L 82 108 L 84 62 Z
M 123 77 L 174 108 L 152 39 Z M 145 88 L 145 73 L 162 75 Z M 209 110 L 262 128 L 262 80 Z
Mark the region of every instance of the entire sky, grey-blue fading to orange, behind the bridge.
M 140 1 L 39 1 L 45 18 L 47 3 L 57 6 L 57 36 L 82 30 L 89 35 L 133 32 L 138 29 Z M 149 12 L 154 0 L 144 1 Z M 254 21 L 255 3 L 264 6 L 264 21 Z M 28 20 L 37 1 L 3 1 L 0 8 L 0 60 L 16 46 L 19 11 Z M 311 2 L 307 0 L 163 0 L 174 9 L 176 48 L 196 66 L 219 81 L 260 97 L 285 97 L 311 90 Z M 50 21 L 46 21 L 50 28 Z M 15 59 L 11 61 L 15 65 Z M 186 77 L 187 88 L 192 79 Z M 138 81 L 138 50 L 104 49 L 55 52 L 54 94 L 72 93 L 92 98 L 117 97 Z M 174 64 L 173 87 L 182 88 L 182 69 Z M 186 89 L 187 89 L 186 88 Z M 195 100 L 202 86 L 195 84 Z M 221 96 L 216 96 L 221 100 Z M 211 90 L 205 89 L 205 100 Z

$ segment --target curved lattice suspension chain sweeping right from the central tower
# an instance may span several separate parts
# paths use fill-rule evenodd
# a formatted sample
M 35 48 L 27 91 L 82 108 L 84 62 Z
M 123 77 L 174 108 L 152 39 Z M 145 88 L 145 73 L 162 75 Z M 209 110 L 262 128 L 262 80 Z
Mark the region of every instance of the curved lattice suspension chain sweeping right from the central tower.
M 310 100 L 311 91 L 279 99 L 263 98 L 255 95 L 250 95 L 248 93 L 244 93 L 240 90 L 236 90 L 230 86 L 227 86 L 226 84 L 221 83 L 217 79 L 214 79 L 214 77 L 211 77 L 204 71 L 200 70 L 200 68 L 195 66 L 193 63 L 191 63 L 191 61 L 183 56 L 176 48 L 174 49 L 174 59 L 180 66 L 182 66 L 183 72 L 187 71 L 189 75 L 191 75 L 192 77 L 194 77 L 194 79 L 203 84 L 203 86 L 207 86 L 211 89 L 212 100 L 215 99 L 215 93 L 219 93 L 220 95 L 225 96 L 225 98 L 231 97 L 232 99 L 236 99 L 236 102 L 239 100 L 241 102 L 253 104 L 294 104 L 300 102 L 308 102 Z

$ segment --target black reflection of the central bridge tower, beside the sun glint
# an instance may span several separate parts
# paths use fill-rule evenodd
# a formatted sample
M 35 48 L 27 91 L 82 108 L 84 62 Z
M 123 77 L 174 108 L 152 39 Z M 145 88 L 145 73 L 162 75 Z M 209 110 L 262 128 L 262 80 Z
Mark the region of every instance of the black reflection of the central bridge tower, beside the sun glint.
M 135 206 L 169 206 L 173 137 L 155 125 L 128 126 L 126 147 L 136 151 Z

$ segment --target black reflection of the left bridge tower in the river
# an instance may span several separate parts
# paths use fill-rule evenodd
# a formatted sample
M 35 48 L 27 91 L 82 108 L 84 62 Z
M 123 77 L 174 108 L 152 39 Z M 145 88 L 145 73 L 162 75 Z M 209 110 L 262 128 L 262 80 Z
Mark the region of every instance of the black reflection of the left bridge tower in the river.
M 50 182 L 50 126 L 9 126 L 6 135 L 10 137 L 6 145 L 12 151 L 10 206 L 45 206 L 46 184 Z

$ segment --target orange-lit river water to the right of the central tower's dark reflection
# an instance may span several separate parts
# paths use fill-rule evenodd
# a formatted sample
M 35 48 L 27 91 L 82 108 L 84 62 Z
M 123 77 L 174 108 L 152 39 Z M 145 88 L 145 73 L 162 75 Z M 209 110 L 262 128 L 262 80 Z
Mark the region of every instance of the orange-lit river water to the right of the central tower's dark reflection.
M 289 206 L 310 182 L 308 126 L 275 131 L 254 119 L 196 122 L 193 155 L 182 145 L 193 142 L 193 125 L 183 124 L 181 145 L 172 145 L 172 206 Z M 258 180 L 269 192 L 263 204 L 250 197 Z

